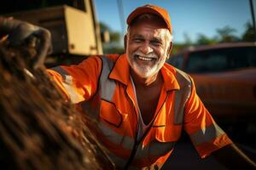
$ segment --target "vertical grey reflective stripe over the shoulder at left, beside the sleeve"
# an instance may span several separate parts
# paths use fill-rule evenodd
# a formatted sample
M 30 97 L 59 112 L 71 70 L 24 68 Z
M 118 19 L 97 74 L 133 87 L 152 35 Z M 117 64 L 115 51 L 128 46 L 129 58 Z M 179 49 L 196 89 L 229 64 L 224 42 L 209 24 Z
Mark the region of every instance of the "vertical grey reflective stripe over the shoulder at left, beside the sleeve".
M 109 73 L 113 69 L 113 61 L 108 59 L 106 56 L 102 56 L 102 75 L 100 77 L 100 88 L 101 88 L 101 97 L 102 99 L 112 101 L 115 82 L 108 78 Z

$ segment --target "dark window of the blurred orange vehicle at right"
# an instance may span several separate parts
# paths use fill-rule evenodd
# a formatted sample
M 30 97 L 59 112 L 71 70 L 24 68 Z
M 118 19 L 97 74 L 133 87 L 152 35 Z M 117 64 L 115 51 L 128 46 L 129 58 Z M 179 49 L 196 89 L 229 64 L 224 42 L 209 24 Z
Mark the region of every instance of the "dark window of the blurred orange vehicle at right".
M 256 67 L 256 48 L 222 48 L 189 54 L 186 71 L 218 72 Z

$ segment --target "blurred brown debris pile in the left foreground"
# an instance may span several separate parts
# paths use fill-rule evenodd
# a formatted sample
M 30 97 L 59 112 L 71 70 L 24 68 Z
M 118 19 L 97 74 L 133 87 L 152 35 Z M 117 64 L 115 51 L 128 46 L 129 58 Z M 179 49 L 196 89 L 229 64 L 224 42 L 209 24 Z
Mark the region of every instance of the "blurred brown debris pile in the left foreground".
M 32 48 L 0 44 L 0 165 L 6 169 L 113 169 Z

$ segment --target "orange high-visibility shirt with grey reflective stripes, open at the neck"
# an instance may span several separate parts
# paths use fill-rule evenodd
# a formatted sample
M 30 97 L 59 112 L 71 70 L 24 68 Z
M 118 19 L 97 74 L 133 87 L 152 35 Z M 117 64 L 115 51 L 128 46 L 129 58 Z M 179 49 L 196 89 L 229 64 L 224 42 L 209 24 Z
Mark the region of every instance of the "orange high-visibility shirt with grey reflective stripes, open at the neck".
M 153 121 L 137 141 L 139 108 L 126 55 L 92 56 L 79 65 L 49 70 L 67 99 L 96 118 L 99 141 L 119 168 L 160 169 L 182 128 L 203 158 L 231 140 L 213 121 L 186 73 L 165 64 Z

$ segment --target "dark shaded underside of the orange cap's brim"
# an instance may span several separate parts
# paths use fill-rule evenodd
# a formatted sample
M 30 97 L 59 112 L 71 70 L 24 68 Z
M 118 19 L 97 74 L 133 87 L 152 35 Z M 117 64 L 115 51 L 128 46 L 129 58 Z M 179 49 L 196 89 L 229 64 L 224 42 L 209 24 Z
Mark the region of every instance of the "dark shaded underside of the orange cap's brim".
M 160 28 L 168 29 L 168 27 L 166 26 L 166 22 L 162 18 L 160 18 L 160 16 L 156 14 L 147 14 L 147 13 L 141 14 L 137 18 L 132 20 L 129 27 L 137 26 L 138 24 L 142 24 L 142 23 L 154 24 L 159 26 Z

